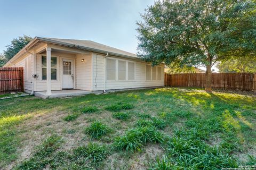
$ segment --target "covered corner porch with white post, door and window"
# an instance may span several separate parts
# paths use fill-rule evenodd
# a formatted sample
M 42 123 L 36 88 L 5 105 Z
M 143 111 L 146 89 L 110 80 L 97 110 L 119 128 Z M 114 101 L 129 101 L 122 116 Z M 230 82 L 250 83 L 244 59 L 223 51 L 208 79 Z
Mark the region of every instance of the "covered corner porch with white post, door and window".
M 92 53 L 85 50 L 42 45 L 34 50 L 31 62 L 36 75 L 32 92 L 42 98 L 90 94 L 91 58 Z

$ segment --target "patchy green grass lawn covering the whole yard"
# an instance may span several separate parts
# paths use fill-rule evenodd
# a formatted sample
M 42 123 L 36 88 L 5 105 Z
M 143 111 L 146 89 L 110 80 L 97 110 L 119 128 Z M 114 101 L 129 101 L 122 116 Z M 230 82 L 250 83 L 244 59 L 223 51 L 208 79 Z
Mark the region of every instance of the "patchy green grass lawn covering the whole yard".
M 0 169 L 256 164 L 256 98 L 163 88 L 0 100 Z

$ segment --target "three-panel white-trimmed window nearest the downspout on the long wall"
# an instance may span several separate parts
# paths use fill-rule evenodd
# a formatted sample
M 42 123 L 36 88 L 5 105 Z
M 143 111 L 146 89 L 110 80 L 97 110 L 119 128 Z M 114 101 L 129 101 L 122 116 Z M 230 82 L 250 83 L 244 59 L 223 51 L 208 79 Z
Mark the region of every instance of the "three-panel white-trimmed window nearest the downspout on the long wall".
M 107 81 L 135 80 L 135 63 L 115 58 L 107 58 L 106 75 Z

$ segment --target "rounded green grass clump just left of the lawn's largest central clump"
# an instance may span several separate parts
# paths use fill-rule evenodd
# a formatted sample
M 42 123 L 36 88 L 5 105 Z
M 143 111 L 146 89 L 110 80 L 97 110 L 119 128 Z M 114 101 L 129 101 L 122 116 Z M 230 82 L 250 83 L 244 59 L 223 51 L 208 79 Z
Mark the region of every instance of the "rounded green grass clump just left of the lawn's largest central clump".
M 107 134 L 109 131 L 109 128 L 105 124 L 98 121 L 93 122 L 90 127 L 85 129 L 85 133 L 89 134 L 91 138 L 95 139 L 99 139 L 102 135 Z

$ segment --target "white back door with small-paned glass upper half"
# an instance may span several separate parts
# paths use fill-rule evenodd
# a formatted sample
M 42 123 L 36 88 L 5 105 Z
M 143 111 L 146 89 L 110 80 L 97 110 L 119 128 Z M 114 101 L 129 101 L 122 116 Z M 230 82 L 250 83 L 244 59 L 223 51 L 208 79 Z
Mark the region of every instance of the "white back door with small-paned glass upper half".
M 73 60 L 62 60 L 62 89 L 73 89 Z

